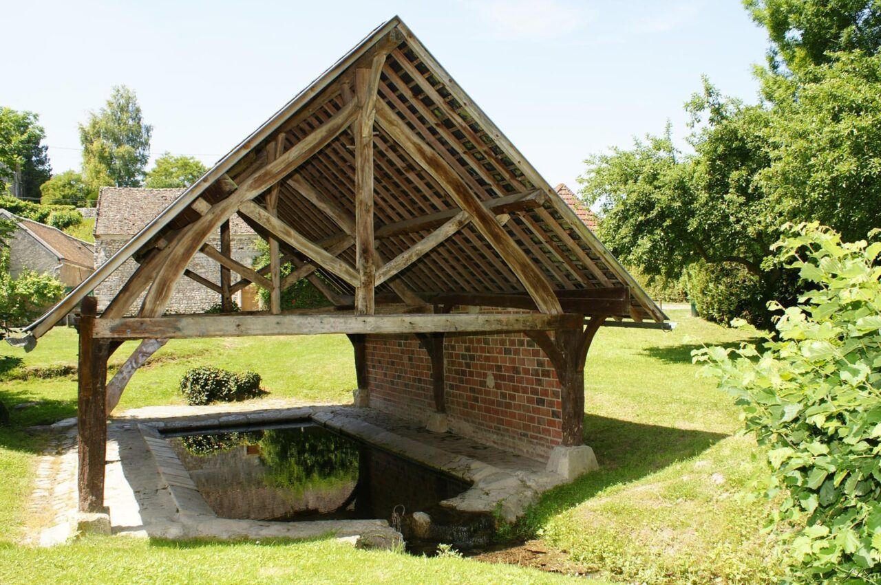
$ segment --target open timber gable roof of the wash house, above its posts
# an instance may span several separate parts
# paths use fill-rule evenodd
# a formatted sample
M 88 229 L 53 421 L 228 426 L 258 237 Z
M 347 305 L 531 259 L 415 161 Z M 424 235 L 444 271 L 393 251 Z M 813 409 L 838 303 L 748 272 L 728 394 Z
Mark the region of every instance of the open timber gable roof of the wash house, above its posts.
M 205 244 L 220 230 L 228 248 L 236 215 L 270 242 L 270 266 L 259 272 Z M 473 305 L 666 319 L 399 18 L 376 28 L 29 325 L 28 343 L 129 258 L 140 267 L 99 321 L 141 339 L 187 336 L 146 321 L 163 315 L 182 276 L 198 278 L 185 274 L 196 252 L 222 265 L 218 292 L 227 306 L 232 293 L 257 282 L 272 291 L 273 315 L 280 290 L 308 278 L 335 305 L 335 318 Z M 285 262 L 296 269 L 282 278 Z M 230 271 L 241 281 L 230 282 Z M 144 291 L 138 318 L 122 319 Z M 342 323 L 335 331 L 359 333 Z

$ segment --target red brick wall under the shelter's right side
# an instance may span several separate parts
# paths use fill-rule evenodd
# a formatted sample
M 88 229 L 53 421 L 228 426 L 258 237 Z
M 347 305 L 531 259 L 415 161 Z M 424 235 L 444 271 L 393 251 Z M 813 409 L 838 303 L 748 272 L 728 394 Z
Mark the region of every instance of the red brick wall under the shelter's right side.
M 370 406 L 425 422 L 433 412 L 431 361 L 415 337 L 369 336 Z M 522 333 L 448 334 L 450 430 L 543 459 L 562 437 L 551 362 Z

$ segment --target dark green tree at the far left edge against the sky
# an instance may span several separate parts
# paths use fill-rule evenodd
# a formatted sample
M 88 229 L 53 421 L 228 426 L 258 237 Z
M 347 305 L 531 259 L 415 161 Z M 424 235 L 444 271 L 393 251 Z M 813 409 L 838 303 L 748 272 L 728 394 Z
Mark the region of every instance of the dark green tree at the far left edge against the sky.
M 29 201 L 39 200 L 40 186 L 52 175 L 39 121 L 35 113 L 0 106 L 0 186 L 15 184 L 14 195 Z

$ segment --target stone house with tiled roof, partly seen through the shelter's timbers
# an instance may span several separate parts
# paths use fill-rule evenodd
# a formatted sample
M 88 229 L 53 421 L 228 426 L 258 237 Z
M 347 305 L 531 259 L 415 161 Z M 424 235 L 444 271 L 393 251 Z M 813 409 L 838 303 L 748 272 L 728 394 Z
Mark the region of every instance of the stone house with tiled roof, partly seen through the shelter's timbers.
M 118 252 L 122 245 L 137 232 L 143 230 L 156 216 L 159 216 L 159 213 L 177 199 L 182 192 L 183 189 L 101 187 L 94 231 L 94 267 L 100 267 L 108 258 Z M 260 253 L 257 250 L 259 237 L 239 216 L 231 218 L 230 232 L 233 240 L 233 259 L 245 266 L 251 266 L 255 256 Z M 208 243 L 216 248 L 220 247 L 219 231 L 208 240 Z M 98 298 L 99 311 L 103 311 L 107 307 L 107 303 L 129 280 L 136 267 L 135 260 L 126 260 L 122 267 L 115 270 L 106 281 L 101 282 L 95 288 L 94 294 Z M 190 261 L 189 270 L 219 286 L 220 265 L 203 253 L 197 253 Z M 237 276 L 233 273 L 233 282 L 238 280 Z M 233 298 L 243 311 L 256 309 L 257 300 L 254 285 L 237 292 Z M 219 296 L 216 292 L 206 289 L 203 285 L 189 278 L 184 278 L 177 283 L 174 296 L 168 305 L 168 312 L 199 313 L 208 310 L 218 302 Z M 133 306 L 137 308 L 139 302 Z

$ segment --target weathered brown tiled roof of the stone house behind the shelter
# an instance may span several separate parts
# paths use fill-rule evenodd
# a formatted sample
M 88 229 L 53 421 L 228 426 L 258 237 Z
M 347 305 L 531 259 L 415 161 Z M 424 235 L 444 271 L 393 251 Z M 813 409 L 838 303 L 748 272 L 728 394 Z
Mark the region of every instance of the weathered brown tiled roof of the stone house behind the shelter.
M 134 236 L 171 205 L 184 189 L 102 186 L 98 194 L 95 236 Z M 249 235 L 254 230 L 241 217 L 230 218 L 233 234 Z

